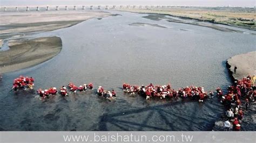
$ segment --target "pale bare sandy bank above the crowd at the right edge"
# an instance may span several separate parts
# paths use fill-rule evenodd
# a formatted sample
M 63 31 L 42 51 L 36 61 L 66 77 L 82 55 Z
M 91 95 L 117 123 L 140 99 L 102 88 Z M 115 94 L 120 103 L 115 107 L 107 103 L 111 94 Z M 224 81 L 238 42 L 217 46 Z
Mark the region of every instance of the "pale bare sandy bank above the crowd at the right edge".
M 227 66 L 235 80 L 240 80 L 242 77 L 256 74 L 256 51 L 246 54 L 235 55 L 227 60 Z M 237 72 L 234 73 L 234 66 L 237 66 Z

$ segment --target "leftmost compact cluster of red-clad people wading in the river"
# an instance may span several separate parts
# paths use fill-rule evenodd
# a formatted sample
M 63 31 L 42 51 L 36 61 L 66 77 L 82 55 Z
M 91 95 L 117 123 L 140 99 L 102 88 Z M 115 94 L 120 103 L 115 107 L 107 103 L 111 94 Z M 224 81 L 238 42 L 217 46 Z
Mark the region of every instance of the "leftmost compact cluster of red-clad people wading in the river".
M 34 87 L 34 79 L 32 77 L 24 77 L 24 76 L 19 76 L 18 78 L 15 78 L 12 90 L 17 91 L 18 89 L 30 89 L 32 90 Z

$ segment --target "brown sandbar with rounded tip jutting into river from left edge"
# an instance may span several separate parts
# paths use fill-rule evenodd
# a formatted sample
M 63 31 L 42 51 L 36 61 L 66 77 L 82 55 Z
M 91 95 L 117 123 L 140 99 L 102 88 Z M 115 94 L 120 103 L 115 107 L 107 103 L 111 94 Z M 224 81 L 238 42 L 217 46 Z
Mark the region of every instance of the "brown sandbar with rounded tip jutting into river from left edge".
M 10 49 L 0 52 L 0 74 L 31 67 L 53 58 L 62 49 L 59 37 L 9 41 Z

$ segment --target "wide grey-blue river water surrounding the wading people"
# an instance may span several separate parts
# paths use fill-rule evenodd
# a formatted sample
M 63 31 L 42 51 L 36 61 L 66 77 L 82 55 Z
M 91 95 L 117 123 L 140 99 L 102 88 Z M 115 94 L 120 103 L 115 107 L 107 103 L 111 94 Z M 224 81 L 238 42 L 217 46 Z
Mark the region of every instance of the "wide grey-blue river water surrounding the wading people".
M 214 28 L 143 18 L 146 14 L 90 19 L 78 25 L 34 35 L 57 35 L 62 51 L 35 67 L 4 74 L 0 82 L 0 130 L 7 131 L 205 131 L 223 113 L 218 99 L 146 101 L 123 94 L 122 84 L 171 83 L 205 90 L 231 84 L 225 62 L 255 51 L 255 32 L 223 32 Z M 163 17 L 163 16 L 159 16 Z M 166 17 L 167 18 L 167 17 Z M 221 26 L 221 25 L 216 25 Z M 254 33 L 254 34 L 250 34 Z M 45 102 L 29 91 L 10 91 L 19 75 L 35 78 L 35 88 L 59 88 L 93 82 L 117 92 L 116 102 L 86 94 L 56 95 Z

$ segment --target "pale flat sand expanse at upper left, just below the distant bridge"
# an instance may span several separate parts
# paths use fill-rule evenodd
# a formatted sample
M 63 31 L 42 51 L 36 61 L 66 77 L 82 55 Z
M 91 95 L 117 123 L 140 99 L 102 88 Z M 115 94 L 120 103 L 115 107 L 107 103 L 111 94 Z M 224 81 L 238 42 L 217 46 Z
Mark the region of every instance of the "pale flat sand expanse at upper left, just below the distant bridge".
M 104 11 L 0 12 L 0 34 L 52 31 L 110 15 Z

